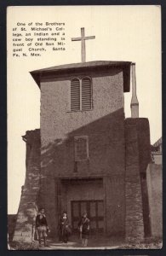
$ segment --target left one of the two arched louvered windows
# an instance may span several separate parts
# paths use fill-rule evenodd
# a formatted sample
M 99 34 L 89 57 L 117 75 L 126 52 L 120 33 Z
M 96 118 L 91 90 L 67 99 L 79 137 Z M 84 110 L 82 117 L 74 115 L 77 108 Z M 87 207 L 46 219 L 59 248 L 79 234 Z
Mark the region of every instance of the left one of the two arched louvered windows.
M 71 111 L 80 110 L 80 82 L 79 79 L 71 81 Z

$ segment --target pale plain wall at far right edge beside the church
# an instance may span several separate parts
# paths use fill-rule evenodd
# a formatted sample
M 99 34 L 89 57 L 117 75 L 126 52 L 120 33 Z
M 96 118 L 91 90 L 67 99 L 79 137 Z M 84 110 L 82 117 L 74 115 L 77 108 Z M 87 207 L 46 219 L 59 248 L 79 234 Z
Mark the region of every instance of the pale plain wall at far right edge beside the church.
M 149 164 L 146 170 L 152 236 L 163 236 L 162 165 Z

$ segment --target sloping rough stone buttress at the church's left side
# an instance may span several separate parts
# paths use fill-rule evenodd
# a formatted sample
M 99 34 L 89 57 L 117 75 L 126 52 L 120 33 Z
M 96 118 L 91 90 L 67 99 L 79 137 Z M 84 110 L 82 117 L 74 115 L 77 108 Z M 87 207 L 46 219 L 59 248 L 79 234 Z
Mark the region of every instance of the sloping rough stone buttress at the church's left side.
M 13 241 L 31 242 L 37 214 L 40 174 L 40 131 L 26 131 L 26 181 L 22 186 Z

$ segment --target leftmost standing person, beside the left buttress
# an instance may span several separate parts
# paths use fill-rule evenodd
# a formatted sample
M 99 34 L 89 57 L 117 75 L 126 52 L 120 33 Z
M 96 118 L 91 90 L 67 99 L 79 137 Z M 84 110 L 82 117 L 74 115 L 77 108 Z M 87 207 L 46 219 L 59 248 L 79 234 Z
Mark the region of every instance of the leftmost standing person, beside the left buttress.
M 39 245 L 41 245 L 41 238 L 43 237 L 44 246 L 47 246 L 47 232 L 49 231 L 46 216 L 44 214 L 44 208 L 40 208 L 36 218 L 36 228 L 38 233 Z

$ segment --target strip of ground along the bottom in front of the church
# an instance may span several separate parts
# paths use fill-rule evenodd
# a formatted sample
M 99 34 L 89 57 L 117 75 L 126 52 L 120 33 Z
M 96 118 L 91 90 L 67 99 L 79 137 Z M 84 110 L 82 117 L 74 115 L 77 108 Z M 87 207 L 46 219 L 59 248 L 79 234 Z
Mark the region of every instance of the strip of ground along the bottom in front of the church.
M 155 238 L 148 238 L 144 241 L 128 241 L 125 242 L 122 239 L 106 238 L 106 237 L 91 237 L 89 239 L 88 247 L 83 247 L 80 239 L 76 236 L 72 236 L 70 241 L 67 243 L 61 243 L 60 241 L 55 241 L 53 239 L 48 239 L 48 247 L 43 245 L 39 247 L 38 242 L 34 241 L 31 244 L 17 243 L 11 244 L 15 250 L 84 250 L 84 249 L 161 249 L 162 240 Z

